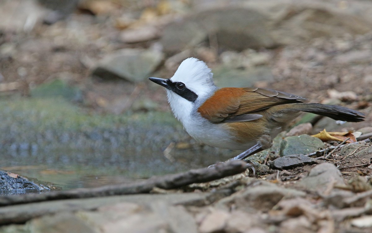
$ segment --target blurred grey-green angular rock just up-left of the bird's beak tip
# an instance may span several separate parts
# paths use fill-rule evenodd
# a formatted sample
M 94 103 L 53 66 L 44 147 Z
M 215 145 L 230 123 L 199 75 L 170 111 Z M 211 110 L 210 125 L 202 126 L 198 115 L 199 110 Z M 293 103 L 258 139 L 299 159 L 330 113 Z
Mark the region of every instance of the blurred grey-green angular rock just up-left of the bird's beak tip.
M 122 49 L 106 55 L 92 71 L 103 79 L 122 78 L 141 82 L 160 65 L 164 55 L 156 50 Z

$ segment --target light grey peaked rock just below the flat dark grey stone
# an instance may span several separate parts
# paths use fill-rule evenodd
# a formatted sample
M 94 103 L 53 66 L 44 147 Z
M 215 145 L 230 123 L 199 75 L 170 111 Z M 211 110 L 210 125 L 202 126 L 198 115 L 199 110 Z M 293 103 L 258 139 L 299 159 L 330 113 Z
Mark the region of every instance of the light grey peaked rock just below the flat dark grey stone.
M 345 186 L 341 172 L 331 163 L 321 163 L 315 166 L 299 184 L 322 194 L 330 191 L 334 185 Z

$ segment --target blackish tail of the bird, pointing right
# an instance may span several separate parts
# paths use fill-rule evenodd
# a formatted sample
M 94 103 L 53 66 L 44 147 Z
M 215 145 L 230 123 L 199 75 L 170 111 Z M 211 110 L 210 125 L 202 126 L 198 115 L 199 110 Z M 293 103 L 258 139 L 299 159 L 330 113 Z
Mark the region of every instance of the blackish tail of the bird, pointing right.
M 289 108 L 286 110 L 289 111 L 311 112 L 322 116 L 328 116 L 329 118 L 340 121 L 364 121 L 364 114 L 362 112 L 339 105 L 324 105 L 321 103 L 290 103 L 288 105 Z

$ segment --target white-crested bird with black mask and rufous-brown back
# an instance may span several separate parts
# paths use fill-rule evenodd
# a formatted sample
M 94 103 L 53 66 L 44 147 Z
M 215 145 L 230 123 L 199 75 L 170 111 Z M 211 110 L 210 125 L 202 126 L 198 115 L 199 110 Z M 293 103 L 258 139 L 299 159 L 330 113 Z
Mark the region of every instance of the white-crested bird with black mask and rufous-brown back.
M 214 84 L 212 70 L 193 57 L 182 61 L 171 78 L 149 79 L 166 88 L 171 111 L 191 137 L 214 147 L 244 149 L 232 160 L 243 160 L 270 148 L 273 138 L 301 111 L 341 121 L 364 120 L 362 112 L 339 105 L 307 103 L 306 98 L 278 90 L 219 88 Z

